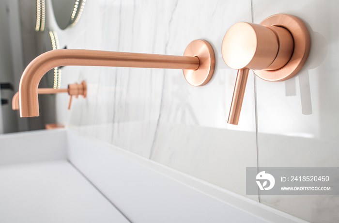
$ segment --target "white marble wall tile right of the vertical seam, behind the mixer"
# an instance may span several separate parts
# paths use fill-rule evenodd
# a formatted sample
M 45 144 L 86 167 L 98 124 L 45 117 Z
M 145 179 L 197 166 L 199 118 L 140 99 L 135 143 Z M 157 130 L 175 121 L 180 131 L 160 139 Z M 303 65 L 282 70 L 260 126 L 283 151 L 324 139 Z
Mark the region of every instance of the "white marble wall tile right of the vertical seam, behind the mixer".
M 311 36 L 304 68 L 292 79 L 257 78 L 260 167 L 339 167 L 339 2 L 253 0 L 254 21 L 298 16 Z M 263 204 L 310 222 L 338 222 L 338 195 L 265 195 Z

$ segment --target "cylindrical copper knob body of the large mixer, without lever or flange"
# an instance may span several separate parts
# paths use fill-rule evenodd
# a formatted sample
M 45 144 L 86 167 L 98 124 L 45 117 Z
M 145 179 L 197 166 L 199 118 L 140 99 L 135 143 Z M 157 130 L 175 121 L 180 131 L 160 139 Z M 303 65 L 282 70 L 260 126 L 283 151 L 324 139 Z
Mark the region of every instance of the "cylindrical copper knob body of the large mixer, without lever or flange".
M 222 41 L 222 57 L 233 69 L 278 69 L 293 52 L 293 38 L 282 27 L 238 22 L 231 26 Z M 274 62 L 274 63 L 273 63 Z

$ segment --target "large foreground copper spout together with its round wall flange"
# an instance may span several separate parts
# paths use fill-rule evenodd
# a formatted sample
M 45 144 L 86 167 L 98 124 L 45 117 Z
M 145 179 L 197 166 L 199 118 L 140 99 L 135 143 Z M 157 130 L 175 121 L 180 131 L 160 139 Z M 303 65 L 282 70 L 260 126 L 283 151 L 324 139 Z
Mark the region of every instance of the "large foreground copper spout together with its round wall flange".
M 24 70 L 19 85 L 20 116 L 39 116 L 38 85 L 45 73 L 57 66 L 116 66 L 183 69 L 193 86 L 206 84 L 212 77 L 215 55 L 205 40 L 194 40 L 184 56 L 111 52 L 84 49 L 56 49 L 36 57 Z

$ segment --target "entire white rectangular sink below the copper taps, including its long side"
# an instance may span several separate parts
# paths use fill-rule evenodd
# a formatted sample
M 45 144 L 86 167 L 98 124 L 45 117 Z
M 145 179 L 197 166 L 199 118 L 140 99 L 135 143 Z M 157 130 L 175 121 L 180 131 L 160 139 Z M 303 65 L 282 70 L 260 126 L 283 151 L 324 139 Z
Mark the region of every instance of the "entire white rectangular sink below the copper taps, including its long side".
M 0 136 L 0 222 L 304 222 L 66 129 Z

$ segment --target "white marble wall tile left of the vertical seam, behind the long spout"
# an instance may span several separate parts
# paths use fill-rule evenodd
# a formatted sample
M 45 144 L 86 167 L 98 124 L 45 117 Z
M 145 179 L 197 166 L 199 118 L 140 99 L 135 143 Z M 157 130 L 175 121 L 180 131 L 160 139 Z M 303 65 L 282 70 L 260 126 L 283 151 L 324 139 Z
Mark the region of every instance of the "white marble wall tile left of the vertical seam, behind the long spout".
M 227 125 L 236 71 L 220 50 L 225 32 L 240 20 L 251 21 L 248 0 L 87 1 L 79 24 L 59 34 L 67 48 L 183 55 L 189 42 L 205 39 L 214 47 L 216 72 L 208 85 L 193 87 L 182 70 L 67 66 L 62 84 L 86 80 L 88 97 L 73 100 L 68 112 L 67 96 L 59 95 L 58 120 L 245 195 L 246 167 L 257 165 L 254 79 L 243 121 Z

